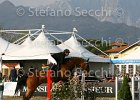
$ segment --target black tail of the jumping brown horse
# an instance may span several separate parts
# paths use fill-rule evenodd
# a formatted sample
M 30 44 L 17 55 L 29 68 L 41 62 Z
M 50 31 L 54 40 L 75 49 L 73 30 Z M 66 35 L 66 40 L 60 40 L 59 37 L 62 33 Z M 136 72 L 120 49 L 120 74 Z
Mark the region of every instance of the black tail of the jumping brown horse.
M 27 78 L 28 78 L 28 76 L 27 76 L 27 74 L 25 74 L 21 78 L 18 79 L 15 94 L 18 92 L 18 90 L 21 90 L 23 88 L 23 86 L 26 86 Z

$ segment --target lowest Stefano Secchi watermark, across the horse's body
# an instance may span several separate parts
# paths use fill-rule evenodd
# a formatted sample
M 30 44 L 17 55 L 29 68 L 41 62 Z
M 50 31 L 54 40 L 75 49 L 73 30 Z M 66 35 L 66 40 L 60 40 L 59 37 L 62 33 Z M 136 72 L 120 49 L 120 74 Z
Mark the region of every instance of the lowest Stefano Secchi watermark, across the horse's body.
M 70 70 L 65 70 L 65 71 L 51 71 L 51 77 L 71 77 L 74 75 L 74 73 L 77 73 L 78 76 L 81 76 L 82 73 L 85 73 L 86 76 L 88 77 L 97 77 L 97 78 L 102 78 L 104 76 L 108 77 L 112 73 L 109 71 L 109 69 L 97 69 L 97 70 L 81 70 L 80 68 L 77 68 L 75 71 L 70 71 Z M 22 74 L 19 74 L 18 76 L 22 77 L 23 75 L 27 74 L 28 77 L 47 77 L 48 73 L 47 70 L 34 70 L 31 71 L 30 69 L 28 71 L 25 71 L 22 69 Z M 118 70 L 115 71 L 116 75 L 120 75 L 120 72 Z

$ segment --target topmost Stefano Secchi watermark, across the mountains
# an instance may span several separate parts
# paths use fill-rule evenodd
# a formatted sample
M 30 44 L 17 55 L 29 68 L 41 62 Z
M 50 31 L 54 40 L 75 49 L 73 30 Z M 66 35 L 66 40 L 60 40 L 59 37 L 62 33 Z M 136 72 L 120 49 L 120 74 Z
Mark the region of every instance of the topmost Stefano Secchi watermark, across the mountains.
M 16 14 L 18 16 L 24 16 L 27 14 L 28 16 L 95 16 L 95 17 L 110 17 L 110 16 L 122 16 L 124 14 L 124 10 L 122 8 L 115 9 L 105 9 L 101 7 L 100 9 L 81 9 L 80 7 L 76 7 L 74 9 L 52 9 L 50 7 L 47 8 L 28 8 L 25 9 L 23 7 L 19 7 L 16 9 Z

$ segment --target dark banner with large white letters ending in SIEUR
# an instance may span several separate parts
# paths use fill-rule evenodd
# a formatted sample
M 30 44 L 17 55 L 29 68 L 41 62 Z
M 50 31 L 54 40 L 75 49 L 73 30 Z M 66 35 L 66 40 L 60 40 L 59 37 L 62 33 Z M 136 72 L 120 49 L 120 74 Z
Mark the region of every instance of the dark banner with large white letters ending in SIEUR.
M 86 82 L 85 84 L 88 88 L 86 90 L 90 92 L 95 92 L 98 97 L 115 97 L 115 83 L 103 83 L 100 82 L 95 84 L 95 82 Z M 86 91 L 85 90 L 85 91 Z M 22 91 L 20 91 L 21 96 L 25 94 L 27 88 L 24 87 Z M 47 94 L 47 87 L 46 84 L 41 84 L 37 87 L 36 91 L 34 92 L 34 96 L 46 96 Z M 90 95 L 90 94 L 89 94 Z

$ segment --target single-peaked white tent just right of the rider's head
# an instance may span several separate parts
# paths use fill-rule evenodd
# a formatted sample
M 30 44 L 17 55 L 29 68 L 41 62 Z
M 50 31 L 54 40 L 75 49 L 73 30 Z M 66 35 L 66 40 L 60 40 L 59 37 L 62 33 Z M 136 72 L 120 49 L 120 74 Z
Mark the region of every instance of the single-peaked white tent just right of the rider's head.
M 68 40 L 58 45 L 62 50 L 69 49 L 70 56 L 72 57 L 83 57 L 85 59 L 89 58 L 90 62 L 110 62 L 107 58 L 99 57 L 87 49 L 85 49 L 76 39 L 75 36 L 71 36 Z

